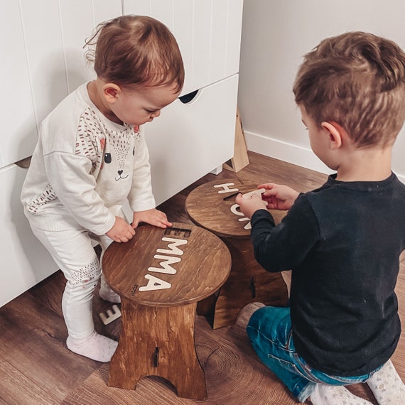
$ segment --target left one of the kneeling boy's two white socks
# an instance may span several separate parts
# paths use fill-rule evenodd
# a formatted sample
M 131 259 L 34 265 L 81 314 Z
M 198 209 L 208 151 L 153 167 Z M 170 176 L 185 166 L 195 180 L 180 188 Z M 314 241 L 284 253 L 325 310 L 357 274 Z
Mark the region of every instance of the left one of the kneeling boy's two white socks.
M 311 402 L 313 405 L 372 405 L 371 402 L 355 396 L 345 387 L 327 384 L 315 385 Z

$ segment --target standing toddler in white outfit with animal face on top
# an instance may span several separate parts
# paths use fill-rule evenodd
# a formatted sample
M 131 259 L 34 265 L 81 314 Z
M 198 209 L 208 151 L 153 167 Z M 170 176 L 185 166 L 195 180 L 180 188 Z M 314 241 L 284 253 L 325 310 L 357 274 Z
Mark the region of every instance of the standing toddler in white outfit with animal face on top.
M 128 242 L 139 222 L 167 227 L 151 190 L 140 125 L 160 115 L 183 87 L 180 50 L 168 28 L 146 16 L 101 23 L 87 45 L 97 79 L 72 92 L 41 124 L 21 200 L 33 233 L 63 271 L 62 308 L 72 352 L 108 362 L 117 342 L 95 332 L 92 297 L 103 249 Z M 129 200 L 131 225 L 122 205 Z M 119 302 L 102 278 L 99 295 Z

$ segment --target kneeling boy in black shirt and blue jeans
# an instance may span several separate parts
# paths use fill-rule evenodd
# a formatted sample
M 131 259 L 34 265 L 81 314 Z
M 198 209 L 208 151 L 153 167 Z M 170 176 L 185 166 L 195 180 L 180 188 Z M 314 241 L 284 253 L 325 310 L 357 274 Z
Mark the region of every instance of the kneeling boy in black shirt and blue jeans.
M 369 33 L 325 39 L 293 92 L 311 148 L 336 174 L 305 194 L 268 183 L 259 185 L 263 200 L 238 195 L 257 261 L 292 269 L 291 307 L 251 305 L 247 333 L 298 401 L 370 404 L 342 387 L 367 382 L 379 404 L 401 404 L 404 384 L 389 359 L 401 335 L 394 287 L 405 185 L 391 156 L 405 119 L 405 53 Z M 275 226 L 264 205 L 289 211 Z

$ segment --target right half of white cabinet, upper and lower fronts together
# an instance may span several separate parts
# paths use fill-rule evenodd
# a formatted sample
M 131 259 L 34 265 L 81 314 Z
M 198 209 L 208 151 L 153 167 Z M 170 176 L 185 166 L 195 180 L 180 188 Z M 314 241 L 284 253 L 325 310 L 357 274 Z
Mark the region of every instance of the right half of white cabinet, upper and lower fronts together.
M 124 13 L 157 18 L 178 41 L 185 66 L 181 95 L 147 124 L 158 203 L 233 156 L 242 0 L 124 0 Z

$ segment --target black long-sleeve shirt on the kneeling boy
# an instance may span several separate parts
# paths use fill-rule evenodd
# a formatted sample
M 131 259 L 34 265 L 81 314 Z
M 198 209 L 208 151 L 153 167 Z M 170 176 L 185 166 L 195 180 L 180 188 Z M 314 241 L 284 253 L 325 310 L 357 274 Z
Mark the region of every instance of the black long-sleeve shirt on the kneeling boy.
M 405 185 L 335 175 L 301 194 L 277 226 L 252 216 L 254 254 L 268 271 L 292 269 L 298 354 L 328 374 L 357 376 L 389 360 L 401 334 L 394 287 L 405 248 Z

